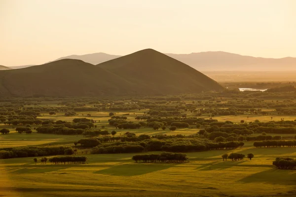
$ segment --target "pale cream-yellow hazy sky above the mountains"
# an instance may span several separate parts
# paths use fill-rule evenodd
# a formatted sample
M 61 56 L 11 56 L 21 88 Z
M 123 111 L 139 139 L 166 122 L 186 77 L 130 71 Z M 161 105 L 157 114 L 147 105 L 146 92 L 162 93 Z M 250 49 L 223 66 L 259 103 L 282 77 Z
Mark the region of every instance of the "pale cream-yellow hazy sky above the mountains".
M 296 57 L 296 0 L 0 0 L 0 65 L 68 55 Z

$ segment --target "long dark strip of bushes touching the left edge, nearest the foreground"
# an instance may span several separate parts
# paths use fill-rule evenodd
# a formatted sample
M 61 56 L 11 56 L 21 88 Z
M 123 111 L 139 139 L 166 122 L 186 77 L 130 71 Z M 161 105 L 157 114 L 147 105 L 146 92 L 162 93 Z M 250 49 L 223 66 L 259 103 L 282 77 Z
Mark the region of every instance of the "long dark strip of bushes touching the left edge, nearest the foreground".
M 65 150 L 67 149 L 72 149 L 72 148 L 65 147 L 65 146 L 1 148 L 0 159 L 65 155 Z

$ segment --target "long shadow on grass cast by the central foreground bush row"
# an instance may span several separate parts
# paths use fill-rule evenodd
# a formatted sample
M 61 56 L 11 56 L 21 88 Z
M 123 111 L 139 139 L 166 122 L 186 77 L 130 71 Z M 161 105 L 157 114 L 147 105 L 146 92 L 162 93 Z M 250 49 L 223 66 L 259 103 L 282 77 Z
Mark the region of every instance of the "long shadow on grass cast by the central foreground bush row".
M 176 164 L 123 164 L 95 171 L 94 173 L 113 176 L 137 176 L 167 169 L 174 165 Z

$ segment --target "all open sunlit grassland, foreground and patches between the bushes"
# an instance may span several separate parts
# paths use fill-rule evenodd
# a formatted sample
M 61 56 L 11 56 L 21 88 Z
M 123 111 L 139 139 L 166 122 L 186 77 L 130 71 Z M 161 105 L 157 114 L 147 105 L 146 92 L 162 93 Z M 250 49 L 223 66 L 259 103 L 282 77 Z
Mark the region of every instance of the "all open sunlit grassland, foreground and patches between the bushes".
M 282 100 L 284 102 L 284 100 Z M 208 102 L 207 100 L 205 102 Z M 224 101 L 227 103 L 227 101 Z M 192 103 L 192 100 L 186 100 Z M 25 105 L 30 107 L 32 105 Z M 38 107 L 58 107 L 55 102 L 42 102 Z M 86 105 L 91 107 L 91 105 Z M 202 108 L 202 107 L 199 107 Z M 211 108 L 211 107 L 210 107 Z M 224 107 L 227 109 L 227 107 Z M 262 108 L 273 112 L 273 109 Z M 149 109 L 134 109 L 128 111 L 113 111 L 116 116 L 126 116 L 127 121 L 143 116 Z M 96 121 L 97 129 L 116 131 L 115 136 L 123 136 L 126 132 L 137 136 L 147 134 L 194 135 L 201 129 L 195 125 L 188 128 L 178 128 L 176 131 L 153 130 L 150 127 L 140 129 L 115 129 L 110 126 L 110 110 L 83 111 L 73 116 L 65 116 L 65 112 L 57 111 L 55 115 L 41 112 L 38 118 L 53 121 L 72 122 L 74 118 L 89 118 Z M 129 115 L 124 115 L 129 113 Z M 89 114 L 86 116 L 86 114 Z M 196 116 L 190 111 L 187 117 Z M 241 124 L 271 120 L 294 121 L 294 115 L 276 114 L 262 115 L 243 113 L 237 115 L 216 115 L 218 122 L 232 121 Z M 209 114 L 201 114 L 198 118 L 209 119 Z M 0 129 L 7 128 L 9 134 L 0 134 L 0 148 L 13 147 L 54 147 L 74 146 L 74 141 L 84 138 L 83 135 L 57 135 L 38 133 L 19 134 L 15 131 L 18 126 L 0 124 Z M 32 126 L 39 127 L 39 126 Z M 92 129 L 94 130 L 94 129 Z M 257 136 L 260 133 L 252 135 Z M 268 133 L 272 136 L 276 133 Z M 281 134 L 283 137 L 294 138 L 295 134 Z M 296 196 L 296 171 L 280 170 L 272 165 L 276 157 L 296 157 L 296 147 L 255 148 L 253 142 L 245 142 L 242 148 L 233 150 L 209 150 L 202 152 L 187 152 L 188 163 L 161 164 L 135 163 L 131 158 L 139 153 L 122 154 L 90 154 L 89 148 L 80 149 L 77 156 L 86 156 L 86 164 L 41 164 L 37 157 L 0 160 L 0 196 L 21 197 L 288 197 Z M 87 154 L 86 154 L 87 153 Z M 160 153 L 145 152 L 144 154 Z M 224 153 L 253 153 L 250 161 L 223 161 Z M 54 156 L 48 156 L 50 159 Z

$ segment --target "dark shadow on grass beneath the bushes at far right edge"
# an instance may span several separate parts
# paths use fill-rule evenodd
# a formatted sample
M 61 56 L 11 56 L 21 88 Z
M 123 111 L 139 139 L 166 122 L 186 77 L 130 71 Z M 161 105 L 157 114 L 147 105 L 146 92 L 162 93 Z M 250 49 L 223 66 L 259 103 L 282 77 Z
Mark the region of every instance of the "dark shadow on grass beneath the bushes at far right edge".
M 285 169 L 268 169 L 261 171 L 250 176 L 247 176 L 238 182 L 243 183 L 269 183 L 269 184 L 281 184 L 281 185 L 296 185 L 296 170 Z

